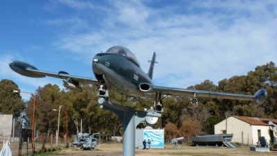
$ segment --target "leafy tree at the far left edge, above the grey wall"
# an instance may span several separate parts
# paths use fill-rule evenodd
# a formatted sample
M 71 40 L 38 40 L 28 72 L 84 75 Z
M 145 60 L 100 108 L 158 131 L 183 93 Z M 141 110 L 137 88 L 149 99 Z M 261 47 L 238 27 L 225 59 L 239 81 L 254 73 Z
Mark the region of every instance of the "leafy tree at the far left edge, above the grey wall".
M 12 114 L 18 118 L 26 106 L 20 94 L 13 90 L 19 90 L 19 88 L 12 80 L 2 79 L 0 81 L 0 114 Z

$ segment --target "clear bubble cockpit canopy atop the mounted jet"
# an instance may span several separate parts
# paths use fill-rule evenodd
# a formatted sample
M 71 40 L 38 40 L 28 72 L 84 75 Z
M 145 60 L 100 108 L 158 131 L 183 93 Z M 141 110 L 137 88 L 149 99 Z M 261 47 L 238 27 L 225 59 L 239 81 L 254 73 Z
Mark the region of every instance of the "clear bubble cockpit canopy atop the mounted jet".
M 136 66 L 141 67 L 134 53 L 129 51 L 129 49 L 125 48 L 124 46 L 112 46 L 106 51 L 106 53 L 116 53 L 117 55 L 123 55 L 127 57 L 128 60 L 136 64 Z

